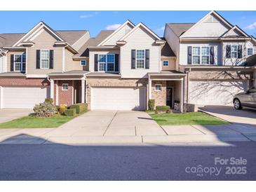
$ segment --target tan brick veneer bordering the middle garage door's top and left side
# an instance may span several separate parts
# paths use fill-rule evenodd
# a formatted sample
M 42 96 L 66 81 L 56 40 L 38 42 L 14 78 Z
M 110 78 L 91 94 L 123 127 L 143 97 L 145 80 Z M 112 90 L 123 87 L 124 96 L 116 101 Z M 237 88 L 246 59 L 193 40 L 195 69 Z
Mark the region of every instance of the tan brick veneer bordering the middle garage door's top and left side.
M 88 77 L 86 79 L 86 102 L 88 103 L 88 109 L 90 109 L 90 89 L 92 87 L 146 87 L 147 78 L 133 79 L 133 78 L 101 78 L 101 77 Z

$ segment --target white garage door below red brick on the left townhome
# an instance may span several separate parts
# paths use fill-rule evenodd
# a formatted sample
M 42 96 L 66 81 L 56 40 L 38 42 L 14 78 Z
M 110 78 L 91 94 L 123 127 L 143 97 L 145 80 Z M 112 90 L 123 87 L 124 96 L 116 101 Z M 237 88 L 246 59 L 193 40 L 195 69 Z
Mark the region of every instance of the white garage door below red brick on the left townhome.
M 3 108 L 33 108 L 50 96 L 50 88 L 3 87 Z

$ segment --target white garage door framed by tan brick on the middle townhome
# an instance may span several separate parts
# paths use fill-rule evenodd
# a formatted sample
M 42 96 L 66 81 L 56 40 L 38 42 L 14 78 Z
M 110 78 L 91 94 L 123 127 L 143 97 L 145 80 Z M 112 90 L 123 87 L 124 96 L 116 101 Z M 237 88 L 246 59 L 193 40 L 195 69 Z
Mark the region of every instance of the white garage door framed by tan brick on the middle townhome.
M 145 88 L 91 88 L 91 109 L 145 110 Z

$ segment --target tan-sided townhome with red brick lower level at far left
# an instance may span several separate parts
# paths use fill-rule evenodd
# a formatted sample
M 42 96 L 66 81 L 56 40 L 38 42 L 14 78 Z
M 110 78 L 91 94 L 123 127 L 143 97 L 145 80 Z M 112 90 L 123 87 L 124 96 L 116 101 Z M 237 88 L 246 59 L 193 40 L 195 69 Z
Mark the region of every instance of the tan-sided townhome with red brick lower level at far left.
M 78 70 L 83 76 L 86 67 L 72 57 L 89 38 L 86 30 L 54 31 L 44 22 L 25 34 L 0 34 L 0 108 L 32 108 L 54 95 L 72 104 L 69 95 L 79 91 L 79 83 L 69 90 L 66 78 L 62 84 L 48 75 Z

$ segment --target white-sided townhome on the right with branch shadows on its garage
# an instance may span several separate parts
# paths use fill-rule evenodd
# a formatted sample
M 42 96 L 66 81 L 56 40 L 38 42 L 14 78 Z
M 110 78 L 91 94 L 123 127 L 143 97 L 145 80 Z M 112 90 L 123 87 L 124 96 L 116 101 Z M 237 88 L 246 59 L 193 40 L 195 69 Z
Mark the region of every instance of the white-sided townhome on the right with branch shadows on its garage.
M 184 102 L 232 104 L 236 93 L 256 84 L 255 67 L 243 64 L 256 53 L 255 39 L 217 12 L 196 23 L 167 23 L 164 37 L 177 56 L 176 70 L 186 74 Z

